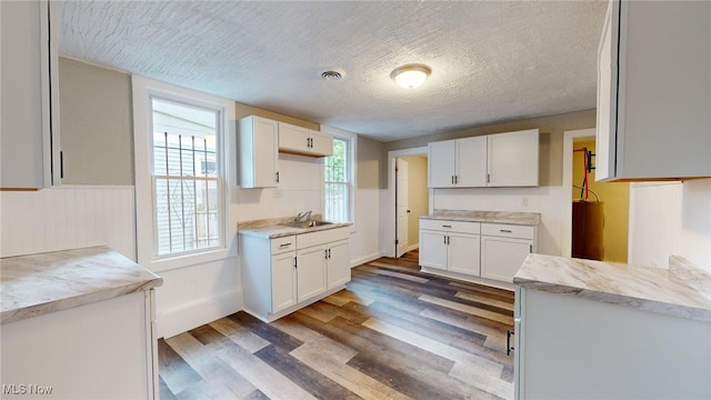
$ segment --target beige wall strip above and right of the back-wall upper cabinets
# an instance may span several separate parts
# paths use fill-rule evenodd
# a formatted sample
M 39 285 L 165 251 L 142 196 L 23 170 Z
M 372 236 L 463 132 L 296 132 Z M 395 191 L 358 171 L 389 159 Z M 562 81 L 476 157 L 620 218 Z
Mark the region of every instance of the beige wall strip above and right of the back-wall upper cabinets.
M 563 131 L 591 128 L 594 126 L 595 110 L 585 110 L 429 134 L 414 139 L 397 140 L 384 143 L 383 151 L 387 154 L 388 151 L 392 150 L 427 146 L 427 143 L 431 141 L 538 128 L 541 132 L 539 158 L 540 186 L 561 186 L 563 179 Z M 384 171 L 384 173 L 387 173 L 387 171 Z

